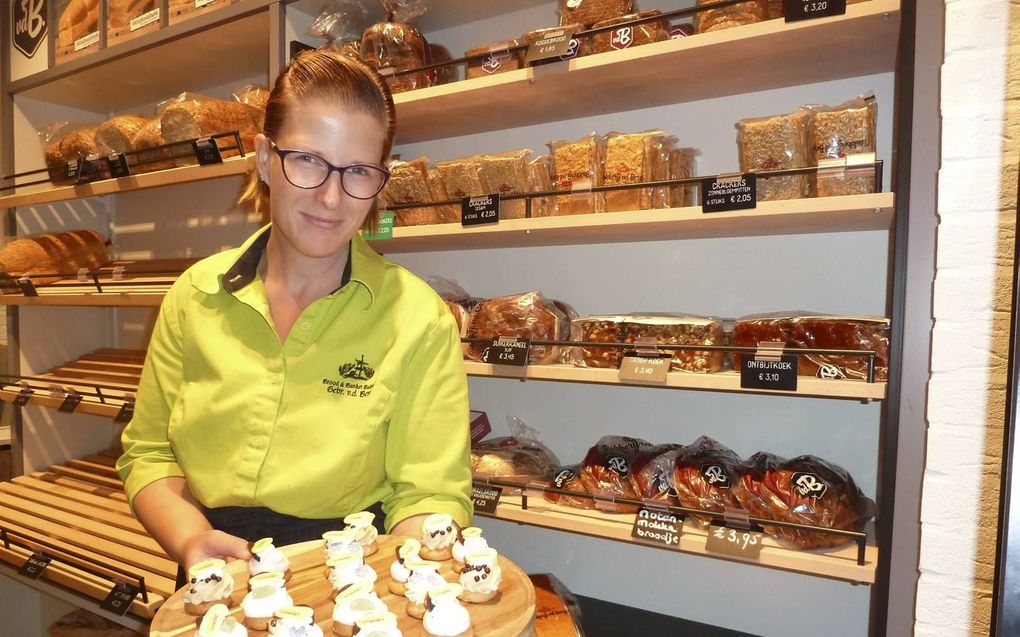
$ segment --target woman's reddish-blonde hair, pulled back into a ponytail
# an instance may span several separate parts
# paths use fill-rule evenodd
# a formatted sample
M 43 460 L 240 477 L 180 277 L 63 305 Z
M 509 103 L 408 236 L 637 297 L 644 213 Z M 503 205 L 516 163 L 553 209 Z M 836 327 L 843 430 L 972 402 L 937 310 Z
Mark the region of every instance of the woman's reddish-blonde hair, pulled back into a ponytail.
M 275 139 L 294 107 L 316 100 L 377 117 L 386 130 L 379 162 L 390 157 L 397 130 L 390 88 L 374 69 L 336 51 L 304 51 L 279 73 L 266 103 L 262 132 Z M 258 168 L 248 174 L 238 203 L 251 203 L 263 219 L 269 218 L 269 185 L 259 178 Z M 374 231 L 377 227 L 378 203 L 373 201 L 362 229 Z

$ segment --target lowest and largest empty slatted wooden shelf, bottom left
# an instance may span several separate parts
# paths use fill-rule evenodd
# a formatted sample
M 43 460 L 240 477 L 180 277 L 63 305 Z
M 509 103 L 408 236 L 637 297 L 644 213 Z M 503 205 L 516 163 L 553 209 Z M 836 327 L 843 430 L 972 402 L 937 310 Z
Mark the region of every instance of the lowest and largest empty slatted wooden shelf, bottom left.
M 145 532 L 111 478 L 115 452 L 103 452 L 49 471 L 0 483 L 0 562 L 19 568 L 33 550 L 55 559 L 42 580 L 94 600 L 115 580 L 144 578 L 147 600 L 130 612 L 150 619 L 173 594 L 176 564 Z

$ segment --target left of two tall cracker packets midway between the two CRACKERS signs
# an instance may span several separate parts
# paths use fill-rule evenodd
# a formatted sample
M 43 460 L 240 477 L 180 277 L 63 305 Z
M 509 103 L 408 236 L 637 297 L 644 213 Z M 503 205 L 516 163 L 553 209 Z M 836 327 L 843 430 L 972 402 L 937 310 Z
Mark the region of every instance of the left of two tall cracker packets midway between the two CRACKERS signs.
M 556 171 L 554 185 L 558 191 L 571 191 L 556 197 L 556 214 L 589 214 L 605 209 L 602 193 L 591 192 L 602 185 L 602 158 L 604 145 L 598 134 L 579 140 L 550 142 L 553 166 Z

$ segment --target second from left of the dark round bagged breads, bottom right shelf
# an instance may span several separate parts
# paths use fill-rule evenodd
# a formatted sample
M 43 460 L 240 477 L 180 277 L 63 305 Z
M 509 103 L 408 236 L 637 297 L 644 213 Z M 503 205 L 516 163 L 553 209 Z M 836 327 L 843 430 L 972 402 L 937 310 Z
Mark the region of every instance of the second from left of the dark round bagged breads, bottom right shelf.
M 581 462 L 580 479 L 593 495 L 640 499 L 630 483 L 632 463 L 640 454 L 652 448 L 652 443 L 641 438 L 608 435 L 588 449 Z M 634 513 L 638 507 L 616 505 L 617 513 Z

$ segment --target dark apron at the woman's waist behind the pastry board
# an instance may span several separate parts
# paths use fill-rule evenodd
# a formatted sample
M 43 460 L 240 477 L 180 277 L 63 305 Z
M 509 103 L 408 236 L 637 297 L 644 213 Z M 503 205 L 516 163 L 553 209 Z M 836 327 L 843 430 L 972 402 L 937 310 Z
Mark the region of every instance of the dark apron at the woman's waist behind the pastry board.
M 375 502 L 367 511 L 375 514 L 375 528 L 385 533 L 382 528 L 382 506 Z M 343 518 L 326 520 L 308 520 L 295 518 L 275 511 L 249 507 L 221 507 L 206 509 L 205 517 L 217 531 L 230 533 L 249 542 L 257 542 L 263 537 L 271 537 L 274 546 L 286 546 L 309 540 L 322 538 L 326 531 L 339 531 L 344 528 Z M 177 567 L 177 588 L 187 582 L 185 570 Z

